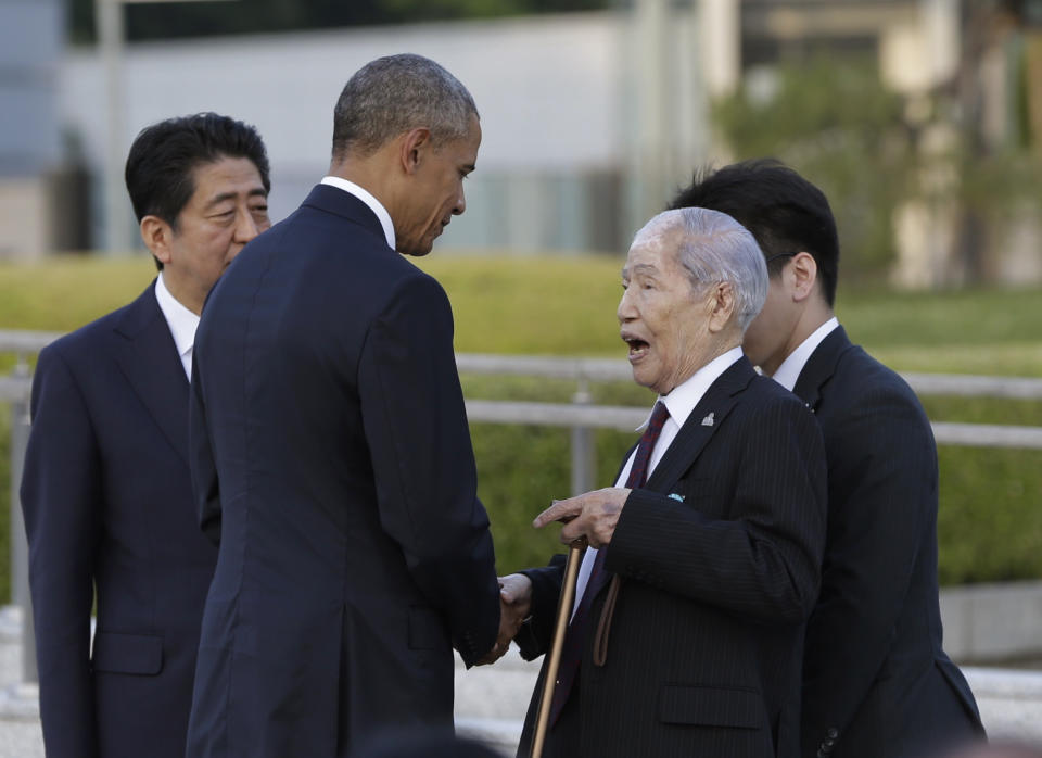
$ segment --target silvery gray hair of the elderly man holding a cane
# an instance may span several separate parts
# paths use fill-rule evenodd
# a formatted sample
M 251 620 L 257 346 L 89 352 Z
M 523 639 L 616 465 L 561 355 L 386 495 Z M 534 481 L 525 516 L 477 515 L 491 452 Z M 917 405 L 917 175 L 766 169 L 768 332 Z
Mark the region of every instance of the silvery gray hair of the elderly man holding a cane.
M 726 281 L 735 295 L 735 316 L 741 332 L 757 317 L 767 298 L 767 265 L 752 233 L 726 213 L 703 207 L 665 211 L 645 224 L 634 241 L 673 229 L 683 233 L 677 262 L 687 269 L 695 292 Z

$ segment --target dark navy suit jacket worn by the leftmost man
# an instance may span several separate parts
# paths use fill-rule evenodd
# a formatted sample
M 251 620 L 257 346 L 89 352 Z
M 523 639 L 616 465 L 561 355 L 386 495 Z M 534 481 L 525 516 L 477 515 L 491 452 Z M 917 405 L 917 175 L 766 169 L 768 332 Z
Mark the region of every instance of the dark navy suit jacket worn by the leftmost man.
M 22 507 L 48 757 L 181 758 L 216 551 L 154 286 L 40 353 Z

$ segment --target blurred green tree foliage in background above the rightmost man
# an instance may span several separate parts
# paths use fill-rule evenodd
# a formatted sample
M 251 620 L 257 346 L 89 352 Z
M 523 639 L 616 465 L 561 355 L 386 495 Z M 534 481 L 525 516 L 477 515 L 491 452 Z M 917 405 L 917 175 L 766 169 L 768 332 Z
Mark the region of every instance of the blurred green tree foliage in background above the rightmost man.
M 847 281 L 884 278 L 897 255 L 895 214 L 910 202 L 951 212 L 953 260 L 968 281 L 1001 248 L 1005 222 L 1038 204 L 1030 144 L 988 149 L 957 92 L 899 94 L 873 59 L 834 54 L 747 77 L 713 117 L 736 157 L 778 157 L 822 188 Z

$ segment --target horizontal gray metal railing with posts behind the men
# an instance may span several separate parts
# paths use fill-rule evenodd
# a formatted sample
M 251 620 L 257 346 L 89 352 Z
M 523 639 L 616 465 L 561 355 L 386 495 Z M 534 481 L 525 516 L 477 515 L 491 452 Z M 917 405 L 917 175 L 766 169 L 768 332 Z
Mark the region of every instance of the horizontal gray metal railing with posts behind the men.
M 22 465 L 29 433 L 31 374 L 27 358 L 59 337 L 59 332 L 0 331 L 0 354 L 15 355 L 14 369 L 9 376 L 0 376 L 0 403 L 11 405 L 11 579 L 12 598 L 23 608 L 23 679 L 26 682 L 36 681 L 28 548 L 18 502 Z M 625 361 L 461 353 L 456 356 L 456 362 L 463 375 L 526 376 L 575 382 L 571 403 L 467 401 L 467 414 L 471 421 L 571 428 L 571 490 L 575 494 L 595 487 L 597 466 L 594 431 L 633 431 L 648 416 L 648 407 L 594 405 L 590 401 L 592 382 L 632 381 L 632 371 Z M 920 395 L 1042 400 L 1042 379 L 939 374 L 902 376 Z M 943 445 L 1042 450 L 1042 427 L 944 421 L 933 421 L 932 427 L 937 442 Z

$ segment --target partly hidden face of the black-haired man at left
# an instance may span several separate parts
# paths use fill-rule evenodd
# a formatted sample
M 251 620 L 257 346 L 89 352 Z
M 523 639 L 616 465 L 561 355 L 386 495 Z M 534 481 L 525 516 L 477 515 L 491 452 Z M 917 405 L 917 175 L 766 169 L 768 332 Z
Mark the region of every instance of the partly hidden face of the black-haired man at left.
M 223 157 L 192 169 L 195 191 L 169 231 L 163 279 L 188 308 L 206 294 L 239 251 L 271 226 L 260 173 L 245 157 Z

